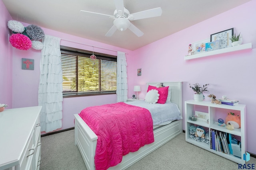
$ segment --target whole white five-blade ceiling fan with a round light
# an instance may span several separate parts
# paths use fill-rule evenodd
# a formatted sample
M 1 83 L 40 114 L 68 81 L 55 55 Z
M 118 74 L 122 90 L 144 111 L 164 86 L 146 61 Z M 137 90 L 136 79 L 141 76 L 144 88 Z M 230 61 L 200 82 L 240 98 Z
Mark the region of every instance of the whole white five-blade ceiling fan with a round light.
M 111 37 L 117 29 L 120 31 L 125 31 L 127 28 L 130 29 L 138 37 L 141 37 L 144 33 L 140 31 L 140 29 L 138 29 L 130 21 L 140 20 L 144 18 L 152 18 L 152 17 L 162 15 L 161 8 L 154 8 L 154 9 L 130 14 L 130 12 L 124 7 L 123 0 L 114 0 L 114 2 L 116 6 L 116 10 L 114 11 L 114 16 L 80 10 L 80 12 L 82 12 L 86 16 L 103 16 L 103 17 L 113 18 L 114 25 L 106 33 L 107 37 Z

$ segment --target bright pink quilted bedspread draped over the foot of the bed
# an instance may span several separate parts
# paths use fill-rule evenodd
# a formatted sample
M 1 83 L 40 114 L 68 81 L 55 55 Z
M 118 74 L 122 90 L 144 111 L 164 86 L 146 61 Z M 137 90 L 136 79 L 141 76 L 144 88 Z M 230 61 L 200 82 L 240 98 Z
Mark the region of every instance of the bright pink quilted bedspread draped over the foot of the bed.
M 115 166 L 123 155 L 154 142 L 153 121 L 148 109 L 119 102 L 87 107 L 79 115 L 98 136 L 96 170 Z

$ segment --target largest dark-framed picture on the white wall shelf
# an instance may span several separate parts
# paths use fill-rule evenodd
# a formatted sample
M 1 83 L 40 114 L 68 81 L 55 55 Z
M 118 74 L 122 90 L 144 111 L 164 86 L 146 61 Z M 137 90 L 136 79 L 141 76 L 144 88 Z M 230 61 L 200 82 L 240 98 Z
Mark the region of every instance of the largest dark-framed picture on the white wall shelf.
M 232 41 L 229 38 L 231 38 L 233 34 L 234 34 L 234 28 L 231 28 L 225 31 L 212 34 L 210 39 L 211 39 L 211 42 L 220 40 L 220 49 L 224 49 L 227 47 L 232 47 L 231 45 Z

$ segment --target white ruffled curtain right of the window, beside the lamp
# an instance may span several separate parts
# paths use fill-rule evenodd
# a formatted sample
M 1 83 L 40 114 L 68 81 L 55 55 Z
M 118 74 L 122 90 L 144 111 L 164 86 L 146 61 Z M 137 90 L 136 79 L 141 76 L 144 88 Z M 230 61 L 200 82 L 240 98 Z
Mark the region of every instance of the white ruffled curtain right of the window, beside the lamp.
M 128 98 L 127 69 L 125 53 L 117 52 L 117 102 L 126 102 Z

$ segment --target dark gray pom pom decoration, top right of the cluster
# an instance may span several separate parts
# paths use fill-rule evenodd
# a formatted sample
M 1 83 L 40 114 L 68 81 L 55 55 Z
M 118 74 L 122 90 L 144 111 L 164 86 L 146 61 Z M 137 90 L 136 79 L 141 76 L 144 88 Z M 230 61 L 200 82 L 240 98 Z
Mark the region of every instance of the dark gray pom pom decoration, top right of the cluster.
M 26 32 L 30 37 L 30 39 L 34 39 L 38 41 L 44 38 L 44 31 L 37 25 L 28 25 L 26 27 Z

